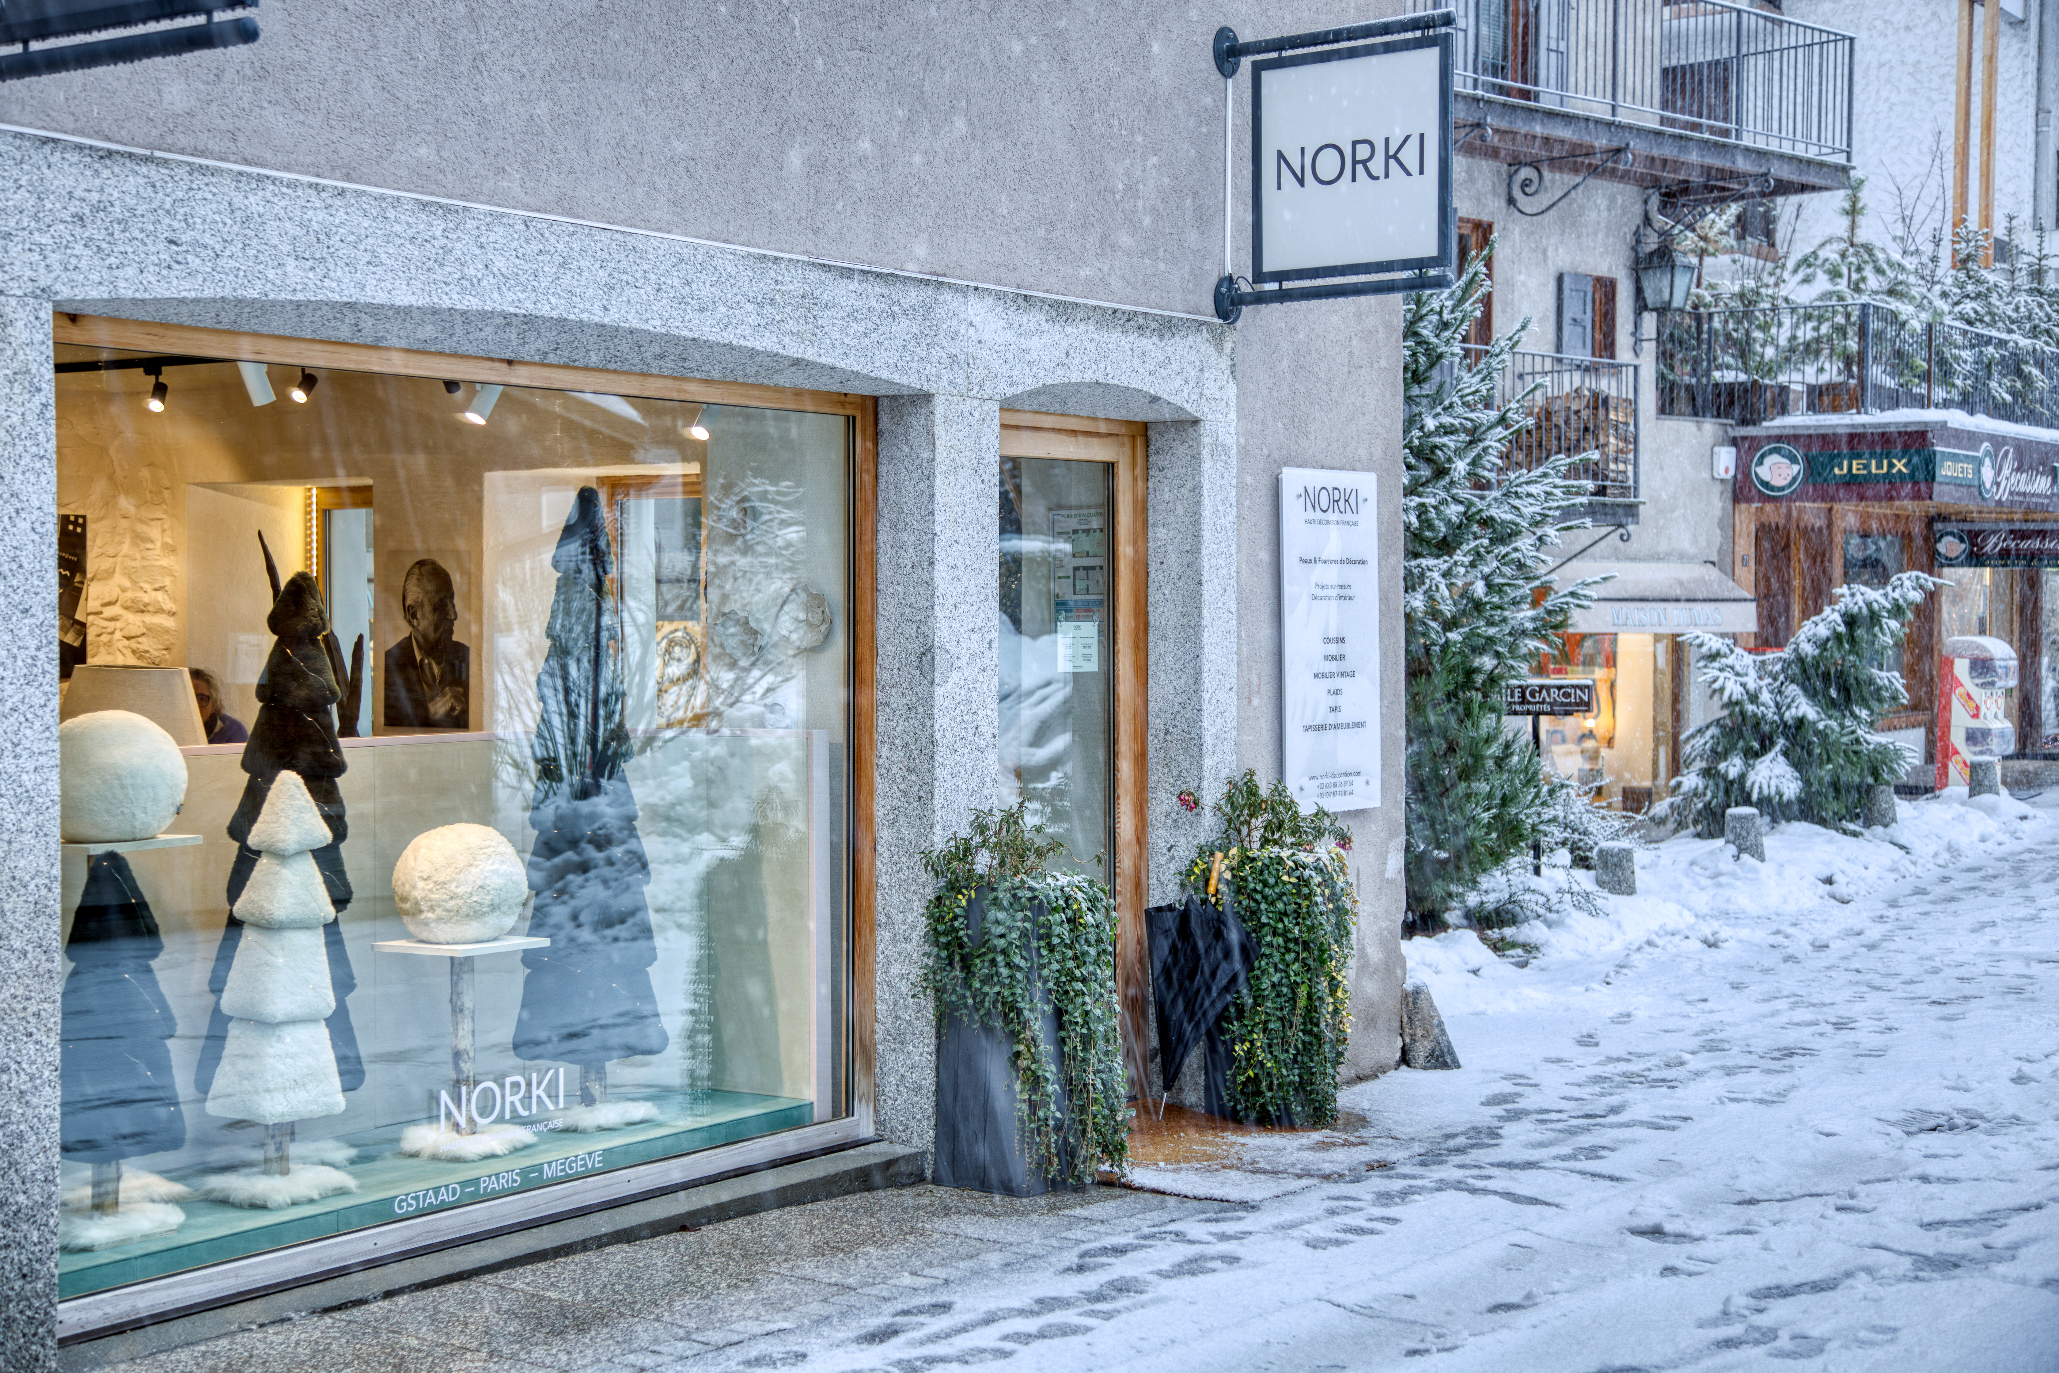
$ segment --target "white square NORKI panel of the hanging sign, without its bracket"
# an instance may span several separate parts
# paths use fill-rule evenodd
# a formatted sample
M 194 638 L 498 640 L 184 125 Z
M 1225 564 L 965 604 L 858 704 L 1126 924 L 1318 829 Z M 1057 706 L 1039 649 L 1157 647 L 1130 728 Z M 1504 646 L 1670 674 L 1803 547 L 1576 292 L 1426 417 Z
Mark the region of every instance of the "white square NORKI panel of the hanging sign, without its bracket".
M 1252 64 L 1252 280 L 1452 261 L 1445 35 Z

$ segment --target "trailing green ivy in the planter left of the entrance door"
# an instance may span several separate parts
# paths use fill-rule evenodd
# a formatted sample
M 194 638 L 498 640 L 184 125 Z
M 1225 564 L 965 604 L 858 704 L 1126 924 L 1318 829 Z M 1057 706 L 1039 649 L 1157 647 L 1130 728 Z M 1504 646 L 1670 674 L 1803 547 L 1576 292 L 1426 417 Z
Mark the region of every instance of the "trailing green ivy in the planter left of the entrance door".
M 1091 1184 L 1128 1167 L 1128 1079 L 1116 1000 L 1116 904 L 1108 885 L 1052 873 L 1062 840 L 1032 825 L 1025 803 L 974 811 L 968 834 L 922 854 L 937 881 L 924 908 L 920 988 L 943 1017 L 962 1015 L 1013 1046 L 1015 1112 L 1032 1169 Z M 980 904 L 980 930 L 968 906 Z M 1056 1013 L 1058 1044 L 1044 1044 Z M 1067 1101 L 1069 1112 L 1058 1103 Z

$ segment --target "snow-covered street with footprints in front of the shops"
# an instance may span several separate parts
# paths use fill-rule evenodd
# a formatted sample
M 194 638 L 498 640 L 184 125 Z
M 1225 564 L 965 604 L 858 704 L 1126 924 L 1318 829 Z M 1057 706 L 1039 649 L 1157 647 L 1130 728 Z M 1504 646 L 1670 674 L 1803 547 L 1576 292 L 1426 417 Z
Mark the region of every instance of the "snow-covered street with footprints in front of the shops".
M 288 1340 L 323 1367 L 375 1330 L 465 1346 L 439 1309 L 548 1291 L 591 1305 L 579 1336 L 451 1367 L 2059 1369 L 2059 809 L 1948 797 L 1767 850 L 1657 846 L 1641 895 L 1520 930 L 1528 967 L 1470 932 L 1412 941 L 1466 1066 L 1353 1087 L 1345 1128 L 1231 1167 L 1139 1169 L 1178 1196 L 846 1198 L 134 1367 L 288 1367 L 266 1354 Z M 752 1225 L 863 1208 L 894 1243 L 959 1247 L 902 1270 L 887 1241 L 811 1254 L 795 1231 L 793 1258 L 754 1260 L 784 1289 L 692 1330 L 692 1284 L 768 1243 Z M 634 1295 L 601 1276 L 653 1264 Z M 647 1295 L 665 1282 L 675 1307 Z

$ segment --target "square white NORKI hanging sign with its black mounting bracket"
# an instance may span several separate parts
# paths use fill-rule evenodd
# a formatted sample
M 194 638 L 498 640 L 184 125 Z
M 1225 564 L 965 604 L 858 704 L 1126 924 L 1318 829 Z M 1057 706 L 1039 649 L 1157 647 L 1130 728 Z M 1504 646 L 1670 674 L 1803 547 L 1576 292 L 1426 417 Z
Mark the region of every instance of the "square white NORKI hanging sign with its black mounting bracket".
M 1244 284 L 1229 261 L 1231 103 L 1223 107 L 1217 317 L 1233 321 L 1246 305 L 1452 286 L 1454 23 L 1452 10 L 1435 10 L 1250 43 L 1217 31 L 1215 66 L 1225 78 L 1248 56 L 1285 54 L 1252 62 L 1252 274 Z

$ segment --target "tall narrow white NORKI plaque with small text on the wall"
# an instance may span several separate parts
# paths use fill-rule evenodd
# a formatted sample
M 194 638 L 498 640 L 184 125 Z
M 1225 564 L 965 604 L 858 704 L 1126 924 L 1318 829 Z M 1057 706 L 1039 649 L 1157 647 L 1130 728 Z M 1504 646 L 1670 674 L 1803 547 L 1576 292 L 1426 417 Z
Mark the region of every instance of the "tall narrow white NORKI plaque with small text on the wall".
M 1380 535 L 1369 471 L 1281 473 L 1281 735 L 1301 805 L 1380 805 Z

